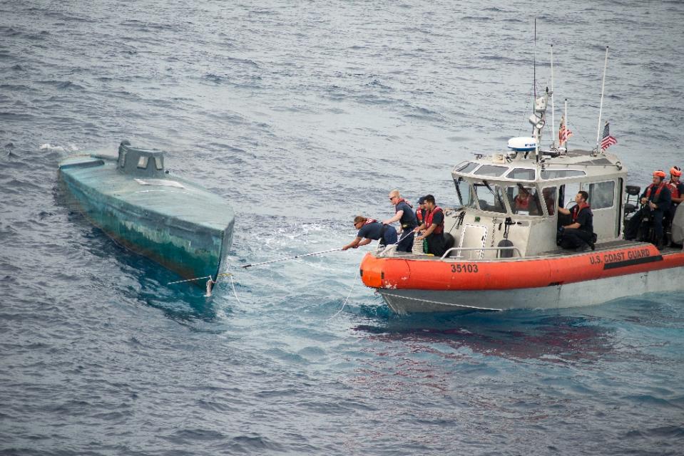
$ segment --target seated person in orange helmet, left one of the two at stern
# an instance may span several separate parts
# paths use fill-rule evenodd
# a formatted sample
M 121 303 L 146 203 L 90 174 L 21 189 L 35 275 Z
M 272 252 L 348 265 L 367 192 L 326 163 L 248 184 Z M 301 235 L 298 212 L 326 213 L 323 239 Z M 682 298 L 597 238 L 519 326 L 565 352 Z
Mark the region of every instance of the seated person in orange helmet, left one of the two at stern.
M 643 222 L 643 216 L 648 211 L 650 220 L 653 223 L 653 243 L 656 247 L 660 247 L 663 243 L 663 214 L 670 209 L 672 202 L 672 194 L 670 189 L 665 184 L 665 171 L 653 172 L 653 183 L 646 187 L 640 199 L 643 206 L 630 219 L 625 229 L 625 239 L 631 241 L 636 239 L 636 234 L 640 225 Z M 648 227 L 643 227 L 642 233 L 647 231 Z M 643 239 L 650 240 L 650 239 Z

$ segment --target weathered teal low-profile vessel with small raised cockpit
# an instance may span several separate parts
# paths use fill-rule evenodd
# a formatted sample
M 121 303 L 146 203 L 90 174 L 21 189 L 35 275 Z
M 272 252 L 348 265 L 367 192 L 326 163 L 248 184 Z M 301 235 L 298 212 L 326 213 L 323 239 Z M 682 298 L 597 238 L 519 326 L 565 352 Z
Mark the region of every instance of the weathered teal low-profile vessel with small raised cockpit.
M 123 141 L 118 156 L 62 160 L 59 175 L 71 202 L 124 247 L 184 279 L 215 278 L 223 269 L 233 242 L 233 208 L 203 187 L 168 175 L 164 152 Z

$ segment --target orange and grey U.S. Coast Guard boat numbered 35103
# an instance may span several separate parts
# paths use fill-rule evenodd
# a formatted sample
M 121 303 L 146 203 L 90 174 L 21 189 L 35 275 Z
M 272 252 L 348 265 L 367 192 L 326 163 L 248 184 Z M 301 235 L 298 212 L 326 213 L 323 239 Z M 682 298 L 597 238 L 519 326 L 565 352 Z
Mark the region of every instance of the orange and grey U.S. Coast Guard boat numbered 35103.
M 640 189 L 626 185 L 627 168 L 616 155 L 598 141 L 594 150 L 567 150 L 555 141 L 540 148 L 548 95 L 535 100 L 532 138 L 514 138 L 509 151 L 475 155 L 453 168 L 461 207 L 445 211 L 444 232 L 454 242 L 442 257 L 392 246 L 364 256 L 363 283 L 393 311 L 549 309 L 684 290 L 682 248 L 623 240 L 626 212 L 635 211 L 623 194 Z M 580 190 L 589 194 L 598 237 L 585 252 L 556 245 L 556 208 L 571 207 Z M 515 202 L 519 194 L 530 199 L 525 209 Z M 673 233 L 682 231 L 683 210 Z

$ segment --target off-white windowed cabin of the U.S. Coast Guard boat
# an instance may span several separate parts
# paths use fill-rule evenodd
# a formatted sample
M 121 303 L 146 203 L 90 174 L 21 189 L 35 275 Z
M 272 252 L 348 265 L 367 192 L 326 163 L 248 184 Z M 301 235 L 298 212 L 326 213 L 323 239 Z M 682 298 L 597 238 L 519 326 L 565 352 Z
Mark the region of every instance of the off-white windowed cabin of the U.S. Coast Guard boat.
M 531 257 L 560 249 L 558 205 L 573 207 L 580 190 L 589 194 L 598 242 L 621 239 L 627 170 L 615 155 L 588 150 L 478 154 L 456 165 L 451 175 L 461 202 L 444 220 L 445 232 L 454 237 L 451 256 Z

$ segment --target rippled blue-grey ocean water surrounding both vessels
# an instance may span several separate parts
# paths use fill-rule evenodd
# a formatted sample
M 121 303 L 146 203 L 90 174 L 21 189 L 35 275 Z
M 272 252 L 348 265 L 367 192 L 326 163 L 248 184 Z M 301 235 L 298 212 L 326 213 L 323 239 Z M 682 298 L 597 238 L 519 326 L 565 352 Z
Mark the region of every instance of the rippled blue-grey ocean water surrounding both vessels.
M 683 455 L 682 294 L 396 316 L 364 249 L 239 267 L 342 247 L 395 187 L 453 204 L 453 165 L 529 135 L 551 44 L 571 147 L 609 46 L 611 152 L 641 185 L 684 165 L 683 26 L 679 1 L 0 1 L 0 454 Z M 123 139 L 234 205 L 235 291 L 167 286 L 64 203 L 58 161 Z

